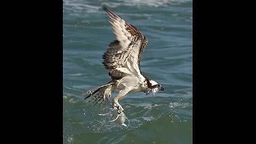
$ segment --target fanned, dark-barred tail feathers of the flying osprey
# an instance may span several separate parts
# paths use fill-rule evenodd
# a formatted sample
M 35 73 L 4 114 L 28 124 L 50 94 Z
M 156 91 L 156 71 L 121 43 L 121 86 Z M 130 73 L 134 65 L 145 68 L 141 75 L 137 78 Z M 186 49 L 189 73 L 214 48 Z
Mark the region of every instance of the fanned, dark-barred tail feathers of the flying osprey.
M 91 97 L 92 99 L 89 102 L 94 103 L 94 105 L 100 102 L 101 105 L 102 102 L 111 97 L 111 93 L 116 89 L 116 87 L 116 83 L 114 81 L 110 81 L 105 85 L 99 86 L 96 89 L 92 89 L 84 93 L 84 99 Z M 106 105 L 106 102 L 104 105 Z

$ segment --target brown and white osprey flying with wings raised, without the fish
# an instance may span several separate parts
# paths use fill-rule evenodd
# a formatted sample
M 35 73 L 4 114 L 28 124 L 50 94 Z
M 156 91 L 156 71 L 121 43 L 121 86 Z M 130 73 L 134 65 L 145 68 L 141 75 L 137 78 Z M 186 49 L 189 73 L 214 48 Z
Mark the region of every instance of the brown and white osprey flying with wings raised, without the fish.
M 105 6 L 102 7 L 110 18 L 109 23 L 114 29 L 116 40 L 109 44 L 107 52 L 102 56 L 103 65 L 109 70 L 109 76 L 112 81 L 97 89 L 87 91 L 85 99 L 93 96 L 95 104 L 99 101 L 105 101 L 111 97 L 114 90 L 119 93 L 113 100 L 113 107 L 117 108 L 117 113 L 123 112 L 122 106 L 118 100 L 124 99 L 129 93 L 146 92 L 155 94 L 158 90 L 164 90 L 164 87 L 143 76 L 140 70 L 140 60 L 148 43 L 148 39 L 133 25 L 125 22 L 114 12 L 109 11 Z

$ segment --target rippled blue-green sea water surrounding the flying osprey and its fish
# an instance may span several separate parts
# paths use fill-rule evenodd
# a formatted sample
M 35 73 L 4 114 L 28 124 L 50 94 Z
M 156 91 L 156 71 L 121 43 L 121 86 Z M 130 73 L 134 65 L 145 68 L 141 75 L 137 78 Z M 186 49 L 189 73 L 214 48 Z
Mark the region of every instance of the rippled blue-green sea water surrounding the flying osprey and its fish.
M 192 143 L 192 4 L 63 0 L 63 143 Z M 141 70 L 165 89 L 119 101 L 130 121 L 127 129 L 99 116 L 108 107 L 90 105 L 83 96 L 111 80 L 101 62 L 115 35 L 102 5 L 148 38 Z

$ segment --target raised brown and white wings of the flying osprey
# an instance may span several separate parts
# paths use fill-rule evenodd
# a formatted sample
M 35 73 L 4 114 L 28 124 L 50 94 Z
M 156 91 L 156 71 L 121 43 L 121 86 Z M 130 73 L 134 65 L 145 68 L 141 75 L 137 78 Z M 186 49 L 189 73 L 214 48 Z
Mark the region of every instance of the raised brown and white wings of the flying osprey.
M 106 7 L 102 9 L 107 12 L 109 23 L 116 35 L 116 40 L 109 44 L 107 52 L 103 54 L 103 65 L 109 70 L 112 79 L 120 79 L 127 75 L 142 77 L 140 60 L 148 43 L 147 38 Z

